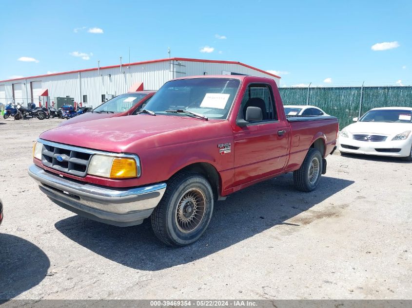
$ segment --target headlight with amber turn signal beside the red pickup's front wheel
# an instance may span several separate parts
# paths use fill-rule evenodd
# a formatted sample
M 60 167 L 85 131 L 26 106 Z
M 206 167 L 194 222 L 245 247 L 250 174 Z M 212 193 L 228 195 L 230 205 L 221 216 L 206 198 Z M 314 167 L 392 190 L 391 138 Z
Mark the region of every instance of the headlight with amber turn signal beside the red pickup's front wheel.
M 104 178 L 126 179 L 136 178 L 140 172 L 133 158 L 96 154 L 90 161 L 87 173 Z

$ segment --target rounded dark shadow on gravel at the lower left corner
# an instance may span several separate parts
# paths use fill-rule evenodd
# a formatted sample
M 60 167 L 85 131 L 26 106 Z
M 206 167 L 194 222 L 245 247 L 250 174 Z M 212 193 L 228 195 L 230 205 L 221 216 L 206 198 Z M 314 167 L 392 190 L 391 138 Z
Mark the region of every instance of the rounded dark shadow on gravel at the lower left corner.
M 0 233 L 0 304 L 37 286 L 50 267 L 47 255 L 33 243 Z

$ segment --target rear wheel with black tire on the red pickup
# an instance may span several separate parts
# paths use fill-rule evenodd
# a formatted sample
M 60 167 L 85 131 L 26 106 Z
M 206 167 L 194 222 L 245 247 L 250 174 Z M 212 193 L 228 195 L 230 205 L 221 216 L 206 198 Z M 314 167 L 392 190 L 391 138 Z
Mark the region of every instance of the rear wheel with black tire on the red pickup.
M 322 167 L 322 155 L 319 150 L 310 148 L 300 168 L 293 173 L 297 189 L 304 192 L 315 190 L 322 175 Z

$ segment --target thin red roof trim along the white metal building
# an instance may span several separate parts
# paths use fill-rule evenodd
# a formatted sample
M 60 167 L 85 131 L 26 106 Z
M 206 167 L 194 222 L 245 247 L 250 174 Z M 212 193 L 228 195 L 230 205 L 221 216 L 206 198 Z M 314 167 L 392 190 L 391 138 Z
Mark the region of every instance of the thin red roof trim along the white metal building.
M 174 61 L 188 61 L 188 62 L 206 62 L 206 63 L 224 63 L 224 64 L 238 64 L 244 67 L 247 67 L 249 69 L 258 71 L 258 72 L 263 72 L 265 74 L 271 75 L 276 78 L 281 78 L 280 76 L 277 76 L 275 74 L 272 74 L 270 72 L 265 72 L 263 70 L 257 69 L 253 66 L 244 64 L 242 62 L 237 62 L 237 61 L 223 61 L 223 60 L 205 60 L 205 59 L 192 59 L 192 58 L 166 58 L 166 59 L 158 59 L 158 60 L 148 60 L 148 61 L 141 61 L 141 62 L 133 62 L 133 63 L 125 63 L 122 64 L 122 66 L 132 66 L 132 65 L 142 65 L 142 64 L 149 64 L 149 63 L 157 63 L 157 62 L 164 62 L 164 61 L 169 61 L 169 60 L 174 60 Z M 120 67 L 120 65 L 111 65 L 111 66 L 102 66 L 100 69 L 112 69 Z M 37 76 L 29 76 L 29 77 L 23 77 L 23 78 L 14 78 L 14 79 L 5 79 L 5 80 L 0 80 L 0 82 L 6 82 L 6 81 L 14 81 L 14 80 L 22 80 L 22 79 L 32 79 L 32 78 L 39 78 L 39 77 L 46 77 L 46 76 L 56 76 L 56 75 L 64 75 L 64 74 L 70 74 L 70 73 L 76 73 L 76 72 L 89 72 L 89 71 L 97 71 L 98 68 L 91 68 L 91 69 L 83 69 L 83 70 L 76 70 L 76 71 L 68 71 L 68 72 L 56 72 L 53 74 L 43 74 L 43 75 L 37 75 Z

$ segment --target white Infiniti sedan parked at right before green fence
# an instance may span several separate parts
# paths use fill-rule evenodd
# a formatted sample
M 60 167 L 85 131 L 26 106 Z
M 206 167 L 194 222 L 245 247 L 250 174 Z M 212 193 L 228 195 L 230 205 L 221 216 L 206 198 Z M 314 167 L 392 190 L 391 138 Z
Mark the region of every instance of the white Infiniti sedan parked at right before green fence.
M 342 153 L 401 157 L 412 162 L 412 108 L 374 108 L 339 134 Z

